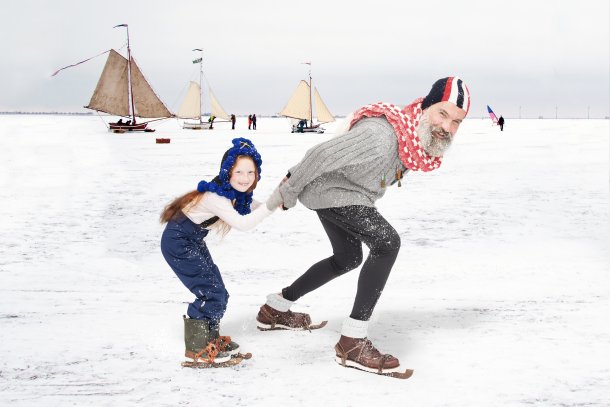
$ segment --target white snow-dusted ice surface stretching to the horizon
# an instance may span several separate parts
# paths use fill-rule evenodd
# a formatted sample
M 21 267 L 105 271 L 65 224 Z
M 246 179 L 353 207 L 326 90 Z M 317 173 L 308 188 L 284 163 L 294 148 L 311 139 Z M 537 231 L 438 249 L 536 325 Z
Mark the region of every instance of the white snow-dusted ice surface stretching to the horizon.
M 238 136 L 262 154 L 264 200 L 333 125 L 111 134 L 96 116 L 0 116 L 0 404 L 608 406 L 608 123 L 466 120 L 440 170 L 378 202 L 402 248 L 370 337 L 415 370 L 402 381 L 334 362 L 357 271 L 294 308 L 326 328 L 256 329 L 266 294 L 330 255 L 300 204 L 208 240 L 231 293 L 221 331 L 254 357 L 180 366 L 192 296 L 160 254 L 161 209 Z

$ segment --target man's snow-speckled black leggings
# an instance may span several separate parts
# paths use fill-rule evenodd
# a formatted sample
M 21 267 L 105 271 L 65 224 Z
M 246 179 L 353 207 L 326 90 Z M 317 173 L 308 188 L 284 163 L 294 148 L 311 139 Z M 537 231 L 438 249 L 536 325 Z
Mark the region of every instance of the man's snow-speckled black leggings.
M 282 295 L 296 301 L 362 263 L 362 243 L 369 256 L 358 278 L 358 290 L 351 318 L 368 321 L 390 275 L 398 250 L 400 236 L 394 228 L 369 206 L 343 206 L 316 211 L 330 239 L 333 255 L 309 268 Z

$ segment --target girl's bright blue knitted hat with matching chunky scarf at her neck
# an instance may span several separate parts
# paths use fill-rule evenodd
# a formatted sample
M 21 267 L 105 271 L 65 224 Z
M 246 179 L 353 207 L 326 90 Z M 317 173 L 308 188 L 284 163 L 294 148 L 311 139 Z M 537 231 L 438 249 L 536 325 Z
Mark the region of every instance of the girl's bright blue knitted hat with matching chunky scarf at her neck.
M 224 196 L 231 201 L 235 201 L 235 210 L 240 215 L 247 215 L 251 211 L 250 204 L 252 203 L 252 192 L 239 192 L 231 186 L 229 183 L 231 169 L 235 165 L 238 157 L 251 157 L 256 165 L 258 181 L 261 178 L 261 165 L 263 164 L 263 160 L 261 159 L 258 151 L 256 151 L 254 143 L 252 143 L 250 140 L 240 137 L 234 138 L 232 143 L 233 147 L 228 149 L 222 156 L 222 161 L 220 162 L 220 172 L 218 175 L 210 182 L 200 181 L 199 185 L 197 185 L 197 191 L 201 193 L 208 191 L 213 192 L 220 196 Z

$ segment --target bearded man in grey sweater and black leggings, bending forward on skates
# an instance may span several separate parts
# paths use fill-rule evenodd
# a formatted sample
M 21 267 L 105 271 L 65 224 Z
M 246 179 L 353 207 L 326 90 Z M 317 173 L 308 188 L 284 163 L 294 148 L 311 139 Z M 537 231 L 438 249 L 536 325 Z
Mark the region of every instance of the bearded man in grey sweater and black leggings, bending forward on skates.
M 357 110 L 347 132 L 307 151 L 280 184 L 285 209 L 297 199 L 316 211 L 333 255 L 311 266 L 281 293 L 270 294 L 256 317 L 261 330 L 312 329 L 311 318 L 292 312 L 294 301 L 362 263 L 356 298 L 335 345 L 343 366 L 394 375 L 400 363 L 367 339 L 368 323 L 400 249 L 396 230 L 375 208 L 388 187 L 408 171 L 440 167 L 470 108 L 470 93 L 458 77 L 439 79 L 425 98 L 400 109 L 376 103 Z M 403 375 L 410 373 L 403 373 Z

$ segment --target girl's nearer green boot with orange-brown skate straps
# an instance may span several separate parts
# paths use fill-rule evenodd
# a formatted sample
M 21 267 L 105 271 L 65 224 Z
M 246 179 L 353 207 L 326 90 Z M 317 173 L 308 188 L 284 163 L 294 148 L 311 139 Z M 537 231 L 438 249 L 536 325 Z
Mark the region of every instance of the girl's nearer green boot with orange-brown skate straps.
M 184 356 L 195 362 L 222 363 L 231 359 L 231 355 L 218 349 L 214 333 L 205 319 L 191 319 L 186 315 L 184 320 Z

